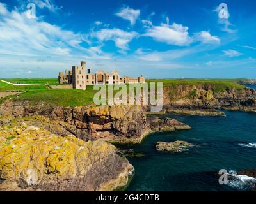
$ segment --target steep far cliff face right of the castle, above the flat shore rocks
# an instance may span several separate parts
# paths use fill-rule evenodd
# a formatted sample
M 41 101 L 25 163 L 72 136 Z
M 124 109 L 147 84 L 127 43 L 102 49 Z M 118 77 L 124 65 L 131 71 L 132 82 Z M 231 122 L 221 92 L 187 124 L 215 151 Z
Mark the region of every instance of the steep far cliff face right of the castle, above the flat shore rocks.
M 244 106 L 244 101 L 256 96 L 255 89 L 227 87 L 216 91 L 216 87 L 204 85 L 175 85 L 164 87 L 165 106 L 183 108 L 220 108 L 223 106 Z M 248 106 L 249 103 L 247 103 Z

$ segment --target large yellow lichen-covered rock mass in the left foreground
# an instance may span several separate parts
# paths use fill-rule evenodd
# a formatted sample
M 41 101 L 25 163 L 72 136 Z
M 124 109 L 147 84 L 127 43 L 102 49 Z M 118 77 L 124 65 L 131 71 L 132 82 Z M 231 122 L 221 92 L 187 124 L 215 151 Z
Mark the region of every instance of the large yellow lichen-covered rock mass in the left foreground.
M 111 191 L 133 167 L 105 140 L 84 142 L 35 126 L 0 127 L 0 191 Z

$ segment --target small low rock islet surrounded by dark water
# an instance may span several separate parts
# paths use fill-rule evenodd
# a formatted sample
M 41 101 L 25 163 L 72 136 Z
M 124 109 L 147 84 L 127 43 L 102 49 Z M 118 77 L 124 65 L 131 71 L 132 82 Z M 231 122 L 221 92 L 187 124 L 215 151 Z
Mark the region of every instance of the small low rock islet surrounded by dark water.
M 191 143 L 185 141 L 175 141 L 175 142 L 157 142 L 156 150 L 160 152 L 186 152 L 188 147 L 191 147 Z

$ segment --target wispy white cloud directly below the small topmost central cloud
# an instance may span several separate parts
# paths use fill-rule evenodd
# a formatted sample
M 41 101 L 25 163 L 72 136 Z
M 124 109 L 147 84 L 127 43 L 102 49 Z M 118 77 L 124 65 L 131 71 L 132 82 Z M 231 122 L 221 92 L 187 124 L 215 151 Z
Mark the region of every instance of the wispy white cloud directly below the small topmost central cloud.
M 129 50 L 128 43 L 138 36 L 135 31 L 127 32 L 121 29 L 101 29 L 100 31 L 92 32 L 92 37 L 96 37 L 99 41 L 115 41 L 116 47 L 122 50 Z

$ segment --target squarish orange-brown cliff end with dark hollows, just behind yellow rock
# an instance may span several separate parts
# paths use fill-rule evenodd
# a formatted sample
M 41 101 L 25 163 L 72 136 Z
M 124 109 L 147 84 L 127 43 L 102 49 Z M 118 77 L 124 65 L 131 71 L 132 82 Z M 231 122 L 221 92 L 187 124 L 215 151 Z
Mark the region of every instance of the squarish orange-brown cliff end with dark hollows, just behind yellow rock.
M 93 138 L 121 143 L 138 143 L 148 133 L 147 117 L 141 106 L 96 106 L 84 115 Z

